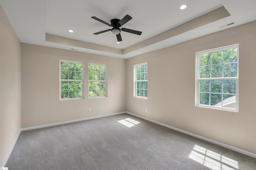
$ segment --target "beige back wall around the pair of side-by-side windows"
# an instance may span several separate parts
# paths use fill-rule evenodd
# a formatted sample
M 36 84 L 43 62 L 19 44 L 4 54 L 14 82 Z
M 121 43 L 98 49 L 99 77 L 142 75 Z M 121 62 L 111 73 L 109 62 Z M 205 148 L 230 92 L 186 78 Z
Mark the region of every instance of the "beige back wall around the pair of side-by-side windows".
M 21 47 L 22 128 L 126 111 L 125 59 L 26 43 Z M 60 59 L 84 62 L 84 99 L 59 100 Z M 88 99 L 88 63 L 107 64 L 107 98 Z

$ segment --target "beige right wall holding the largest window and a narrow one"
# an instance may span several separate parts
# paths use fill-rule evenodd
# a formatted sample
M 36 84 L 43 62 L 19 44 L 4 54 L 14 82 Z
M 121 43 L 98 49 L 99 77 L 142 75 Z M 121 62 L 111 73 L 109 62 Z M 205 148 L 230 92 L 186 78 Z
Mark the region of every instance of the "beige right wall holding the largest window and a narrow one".
M 256 21 L 127 59 L 127 111 L 256 154 L 255 28 Z M 236 43 L 239 113 L 196 107 L 196 52 Z M 133 66 L 145 62 L 146 100 L 133 97 Z

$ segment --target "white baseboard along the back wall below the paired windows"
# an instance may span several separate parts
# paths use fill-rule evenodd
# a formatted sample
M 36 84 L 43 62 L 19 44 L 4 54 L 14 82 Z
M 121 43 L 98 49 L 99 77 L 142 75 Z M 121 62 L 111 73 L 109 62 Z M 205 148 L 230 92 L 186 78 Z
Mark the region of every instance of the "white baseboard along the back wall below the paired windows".
M 63 124 L 66 124 L 66 123 L 73 123 L 73 122 L 84 121 L 84 120 L 89 120 L 89 119 L 96 119 L 96 118 L 100 118 L 100 117 L 118 115 L 118 114 L 122 114 L 122 113 L 126 113 L 126 112 L 124 111 L 124 112 L 119 112 L 119 113 L 111 113 L 111 114 L 107 114 L 107 115 L 100 115 L 100 116 L 94 116 L 94 117 L 87 117 L 87 118 L 76 119 L 76 120 L 70 120 L 70 121 L 62 121 L 62 122 L 57 122 L 57 123 L 50 123 L 50 124 L 46 124 L 46 125 L 39 125 L 39 126 L 33 126 L 33 127 L 25 127 L 25 128 L 22 128 L 21 131 L 29 131 L 29 130 L 33 130 L 33 129 L 40 129 L 40 128 L 43 128 L 43 127 L 50 127 L 50 126 L 56 126 L 56 125 L 63 125 Z

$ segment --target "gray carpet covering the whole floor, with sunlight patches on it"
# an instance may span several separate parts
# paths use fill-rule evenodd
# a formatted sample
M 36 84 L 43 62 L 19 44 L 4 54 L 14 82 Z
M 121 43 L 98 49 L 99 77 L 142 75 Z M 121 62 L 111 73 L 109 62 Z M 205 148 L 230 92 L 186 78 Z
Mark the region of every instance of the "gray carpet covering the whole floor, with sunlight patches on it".
M 24 131 L 6 167 L 8 170 L 255 170 L 256 159 L 120 114 Z

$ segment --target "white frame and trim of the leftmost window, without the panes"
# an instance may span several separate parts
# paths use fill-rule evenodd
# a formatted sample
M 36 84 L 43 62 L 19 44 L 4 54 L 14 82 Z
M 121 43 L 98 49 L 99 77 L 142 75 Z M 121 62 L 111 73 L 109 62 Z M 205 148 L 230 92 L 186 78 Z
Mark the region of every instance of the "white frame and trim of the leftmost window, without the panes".
M 68 62 L 68 63 L 79 63 L 79 64 L 82 64 L 82 74 L 83 74 L 83 78 L 82 78 L 82 81 L 81 80 L 66 80 L 66 79 L 61 79 L 61 62 Z M 78 99 L 84 99 L 84 62 L 79 62 L 79 61 L 70 61 L 70 60 L 60 60 L 60 63 L 59 63 L 59 72 L 60 72 L 60 74 L 59 74 L 59 93 L 60 93 L 60 95 L 59 95 L 59 99 L 60 100 L 78 100 Z M 64 98 L 64 99 L 62 99 L 61 98 L 61 82 L 62 81 L 73 81 L 73 82 L 76 82 L 76 81 L 81 81 L 82 82 L 82 98 Z

